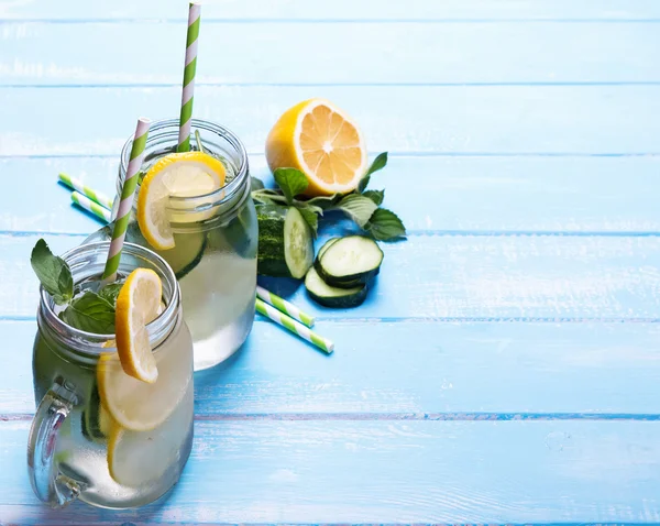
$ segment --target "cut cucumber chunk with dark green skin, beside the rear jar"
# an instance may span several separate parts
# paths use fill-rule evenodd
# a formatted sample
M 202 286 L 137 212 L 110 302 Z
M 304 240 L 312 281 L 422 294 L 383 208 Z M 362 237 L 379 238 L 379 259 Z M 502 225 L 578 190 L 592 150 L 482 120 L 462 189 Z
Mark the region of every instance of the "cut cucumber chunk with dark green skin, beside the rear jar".
M 258 274 L 295 277 L 307 274 L 314 261 L 311 230 L 294 207 L 257 208 Z

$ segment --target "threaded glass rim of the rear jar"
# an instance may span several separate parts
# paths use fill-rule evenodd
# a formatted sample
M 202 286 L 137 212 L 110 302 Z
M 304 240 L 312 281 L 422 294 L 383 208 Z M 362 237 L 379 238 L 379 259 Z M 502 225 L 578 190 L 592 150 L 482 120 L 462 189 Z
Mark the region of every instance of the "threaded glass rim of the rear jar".
M 238 169 L 235 177 L 221 188 L 218 188 L 217 190 L 210 191 L 208 194 L 200 194 L 187 197 L 170 196 L 168 199 L 168 208 L 172 208 L 177 212 L 197 212 L 200 211 L 200 209 L 220 206 L 223 202 L 232 199 L 234 195 L 245 186 L 245 183 L 249 182 L 250 171 L 248 166 L 248 152 L 245 151 L 245 146 L 235 133 L 233 133 L 228 128 L 204 119 L 191 119 L 190 124 L 191 130 L 205 130 L 226 140 L 239 154 L 240 162 L 239 166 L 237 167 Z M 153 143 L 154 141 L 164 138 L 172 138 L 172 145 L 176 145 L 178 142 L 178 119 L 163 119 L 153 121 L 148 129 L 148 136 L 146 139 L 145 147 L 148 147 L 150 142 Z M 202 143 L 204 142 L 205 140 L 202 138 Z M 123 180 L 127 175 L 132 144 L 133 136 L 131 135 L 121 149 L 119 167 L 120 177 L 117 183 L 119 195 L 121 195 L 121 185 L 123 184 Z M 197 204 L 197 206 L 191 207 L 191 204 Z

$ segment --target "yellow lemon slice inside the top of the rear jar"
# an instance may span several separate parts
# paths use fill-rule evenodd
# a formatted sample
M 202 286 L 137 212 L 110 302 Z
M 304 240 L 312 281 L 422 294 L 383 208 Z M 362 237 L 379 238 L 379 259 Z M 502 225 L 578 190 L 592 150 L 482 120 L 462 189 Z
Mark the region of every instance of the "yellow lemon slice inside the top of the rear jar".
M 157 250 L 174 248 L 167 211 L 169 197 L 198 197 L 224 185 L 224 166 L 204 152 L 182 152 L 158 160 L 146 173 L 138 195 L 138 223 L 146 241 Z M 212 211 L 178 215 L 177 221 L 201 221 Z

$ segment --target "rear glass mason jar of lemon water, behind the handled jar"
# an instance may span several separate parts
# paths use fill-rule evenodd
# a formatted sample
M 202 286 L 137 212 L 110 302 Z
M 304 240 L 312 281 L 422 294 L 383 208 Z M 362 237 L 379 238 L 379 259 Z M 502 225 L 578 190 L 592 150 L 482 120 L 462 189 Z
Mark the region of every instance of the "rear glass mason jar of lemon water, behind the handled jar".
M 152 123 L 143 172 L 176 151 L 178 128 L 178 120 Z M 193 119 L 191 133 L 196 131 L 204 150 L 224 165 L 224 187 L 204 196 L 169 199 L 174 249 L 153 249 L 140 232 L 134 213 L 127 240 L 154 250 L 174 269 L 182 287 L 184 316 L 193 335 L 195 370 L 199 371 L 233 354 L 252 329 L 258 232 L 243 144 L 232 132 L 212 122 Z M 118 195 L 127 175 L 131 145 L 129 139 L 121 152 Z M 194 135 L 190 147 L 198 149 Z M 110 239 L 111 231 L 112 224 L 88 241 Z

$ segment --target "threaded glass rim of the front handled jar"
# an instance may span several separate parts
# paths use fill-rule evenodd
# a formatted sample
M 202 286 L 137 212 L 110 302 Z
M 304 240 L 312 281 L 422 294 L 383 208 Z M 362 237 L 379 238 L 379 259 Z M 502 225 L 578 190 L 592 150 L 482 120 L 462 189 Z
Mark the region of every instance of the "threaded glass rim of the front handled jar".
M 99 241 L 75 246 L 62 254 L 61 257 L 70 265 L 70 262 L 75 261 L 78 256 L 82 256 L 87 253 L 107 254 L 109 249 L 110 241 Z M 157 352 L 157 346 L 169 335 L 179 318 L 180 292 L 176 276 L 172 267 L 163 257 L 144 246 L 124 242 L 122 253 L 131 253 L 132 255 L 140 255 L 146 259 L 163 274 L 167 288 L 172 291 L 163 313 L 146 325 L 150 342 L 153 344 L 153 352 Z M 74 274 L 75 277 L 75 272 L 73 270 L 72 274 Z M 43 286 L 40 287 L 40 314 L 45 318 L 45 322 L 55 333 L 59 335 L 62 339 L 66 338 L 67 343 L 77 343 L 77 346 L 75 346 L 77 347 L 77 350 L 85 354 L 98 357 L 103 352 L 112 352 L 116 348 L 114 346 L 101 347 L 103 343 L 113 341 L 116 335 L 97 335 L 96 332 L 88 332 L 72 327 L 62 320 L 53 309 L 52 296 Z M 95 343 L 96 346 L 91 346 L 90 343 Z

